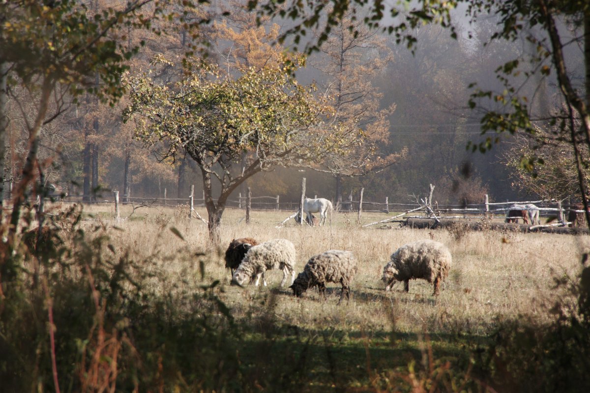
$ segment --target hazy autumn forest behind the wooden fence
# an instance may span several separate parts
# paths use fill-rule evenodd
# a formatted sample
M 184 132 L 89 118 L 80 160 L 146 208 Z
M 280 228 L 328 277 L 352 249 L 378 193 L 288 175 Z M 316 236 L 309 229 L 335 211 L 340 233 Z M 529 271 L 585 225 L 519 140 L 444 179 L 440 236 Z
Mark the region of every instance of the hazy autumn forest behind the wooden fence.
M 110 3 L 90 2 L 90 9 L 99 12 Z M 290 48 L 289 42 L 276 44 L 289 22 L 267 20 L 258 27 L 254 14 L 234 2 L 217 2 L 202 12 L 212 22 L 199 26 L 198 34 L 173 19 L 158 22 L 169 24 L 160 26 L 159 34 L 129 27 L 127 45 L 144 44 L 128 62 L 129 75 L 155 70 L 150 61 L 163 56 L 169 62 L 155 70 L 155 77 L 173 82 L 183 72 L 186 52 L 232 72 L 238 66 L 262 67 L 269 53 Z M 362 143 L 371 144 L 376 164 L 361 171 L 341 168 L 340 173 L 333 168 L 278 167 L 255 174 L 234 193 L 245 194 L 245 187 L 251 186 L 253 196 L 297 200 L 304 176 L 307 194 L 332 200 L 356 195 L 364 187 L 368 200 L 388 196 L 390 202 L 408 202 L 409 196 L 428 190 L 429 183 L 437 186 L 435 197 L 440 203 L 463 203 L 465 199 L 477 203 L 486 193 L 492 200 L 551 197 L 517 180 L 515 155 L 520 151 L 510 143 L 496 145 L 486 154 L 466 149 L 468 142 L 477 144 L 482 138 L 481 113 L 467 108 L 469 85 L 477 82 L 501 90 L 501 81 L 491 76 L 494 70 L 530 49 L 519 41 L 484 46 L 478 37 L 489 37 L 495 25 L 484 19 L 469 26 L 475 34 L 467 34 L 466 24 L 466 31 L 459 31 L 457 39 L 438 25 L 425 25 L 412 32 L 418 41 L 411 52 L 397 45 L 393 36 L 362 27 L 360 22 L 356 29 L 363 28 L 362 34 L 355 37 L 345 19 L 332 29 L 321 50 L 309 55 L 296 77 L 301 84 L 316 84 L 317 95 L 330 95 L 343 119 L 355 118 L 366 133 Z M 543 91 L 537 97 L 542 96 L 543 105 L 549 105 L 556 86 L 546 81 L 540 86 Z M 186 197 L 191 184 L 200 192 L 202 174 L 194 160 L 182 155 L 167 158 L 166 147 L 146 146 L 134 138 L 135 123 L 123 123 L 127 98 L 114 106 L 90 95 L 79 99 L 83 105 L 72 105 L 67 95 L 61 97 L 67 109 L 42 127 L 40 159 L 51 160 L 45 170 L 47 183 L 67 186 L 70 194 L 84 194 L 86 200 L 99 188 L 119 190 L 123 197 L 161 197 L 165 189 L 169 197 Z M 6 181 L 19 181 L 28 143 L 27 105 L 36 103 L 30 91 L 12 89 Z M 511 137 L 503 138 L 510 141 Z

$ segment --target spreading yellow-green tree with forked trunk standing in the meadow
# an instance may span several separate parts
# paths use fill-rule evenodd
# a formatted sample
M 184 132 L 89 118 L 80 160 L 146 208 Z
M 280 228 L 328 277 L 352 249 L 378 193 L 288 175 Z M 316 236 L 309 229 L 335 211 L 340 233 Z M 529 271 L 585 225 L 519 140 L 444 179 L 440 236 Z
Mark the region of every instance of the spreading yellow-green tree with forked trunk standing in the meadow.
M 330 123 L 330 106 L 314 97 L 313 87 L 297 83 L 294 72 L 303 61 L 285 58 L 236 77 L 192 64 L 174 86 L 148 74 L 129 83 L 127 117 L 136 122 L 137 138 L 148 145 L 165 141 L 166 156 L 186 153 L 201 169 L 209 235 L 216 244 L 228 197 L 248 177 L 276 166 L 310 167 L 331 154 L 344 156 L 362 141 L 362 131 Z

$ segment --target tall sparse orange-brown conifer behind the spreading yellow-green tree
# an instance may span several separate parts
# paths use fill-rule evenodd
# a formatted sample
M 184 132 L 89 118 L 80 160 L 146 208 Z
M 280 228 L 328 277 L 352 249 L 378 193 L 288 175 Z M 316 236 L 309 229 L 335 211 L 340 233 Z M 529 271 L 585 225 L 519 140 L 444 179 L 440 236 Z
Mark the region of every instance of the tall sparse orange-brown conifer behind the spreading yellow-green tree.
M 381 110 L 383 94 L 372 83 L 392 61 L 391 51 L 379 32 L 355 20 L 354 14 L 349 11 L 342 16 L 320 47 L 320 56 L 311 61 L 326 76 L 323 83 L 332 97 L 336 120 L 342 125 L 358 125 L 366 135 L 362 146 L 352 154 L 332 157 L 327 163 L 327 169 L 336 177 L 338 205 L 342 202 L 342 176 L 382 170 L 404 155 L 404 150 L 386 153 L 387 117 L 395 111 L 395 103 Z

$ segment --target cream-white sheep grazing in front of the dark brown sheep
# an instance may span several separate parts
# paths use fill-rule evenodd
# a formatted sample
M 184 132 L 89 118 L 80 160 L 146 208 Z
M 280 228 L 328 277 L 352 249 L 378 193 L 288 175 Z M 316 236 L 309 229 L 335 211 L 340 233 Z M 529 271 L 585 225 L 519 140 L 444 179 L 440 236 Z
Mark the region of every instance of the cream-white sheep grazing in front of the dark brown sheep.
M 289 273 L 291 273 L 291 283 L 293 283 L 295 260 L 295 246 L 289 240 L 268 240 L 268 242 L 260 243 L 248 250 L 242 263 L 235 270 L 231 282 L 242 285 L 245 280 L 255 275 L 256 282 L 254 284 L 258 286 L 262 277 L 264 286 L 266 286 L 264 272 L 269 269 L 281 269 L 283 270 L 281 286 L 287 281 Z

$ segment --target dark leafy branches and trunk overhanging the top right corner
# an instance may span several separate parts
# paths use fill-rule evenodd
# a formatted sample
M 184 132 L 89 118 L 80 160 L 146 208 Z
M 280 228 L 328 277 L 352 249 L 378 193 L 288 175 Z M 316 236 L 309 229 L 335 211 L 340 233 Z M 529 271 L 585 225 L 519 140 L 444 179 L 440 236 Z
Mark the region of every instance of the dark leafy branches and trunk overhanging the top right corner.
M 360 0 L 333 0 L 330 2 L 283 2 L 251 0 L 252 9 L 258 7 L 260 14 L 272 14 L 296 20 L 286 34 L 294 34 L 296 42 L 312 29 L 319 29 L 319 39 L 306 45 L 309 51 L 320 47 L 329 37 L 330 31 L 338 24 L 346 12 L 354 10 L 362 3 Z M 496 69 L 498 80 L 503 84 L 501 90 L 477 87 L 469 105 L 484 111 L 481 117 L 482 132 L 489 133 L 535 133 L 533 121 L 559 124 L 562 139 L 569 135 L 570 148 L 578 176 L 578 191 L 588 207 L 588 196 L 584 171 L 590 164 L 590 5 L 586 1 L 549 0 L 478 0 L 478 1 L 401 1 L 385 9 L 381 1 L 366 6 L 369 14 L 363 22 L 369 27 L 379 27 L 395 35 L 397 42 L 406 42 L 413 47 L 416 37 L 412 28 L 421 24 L 438 23 L 450 28 L 452 37 L 457 37 L 453 25 L 453 12 L 458 5 L 466 5 L 466 13 L 471 22 L 493 18 L 497 21 L 496 31 L 489 37 L 480 35 L 484 42 L 521 41 L 523 47 L 532 47 L 515 55 Z M 321 13 L 329 7 L 325 17 Z M 388 18 L 385 18 L 386 13 Z M 356 15 L 358 16 L 358 15 Z M 359 16 L 358 16 L 359 17 Z M 472 32 L 470 34 L 476 34 Z M 481 31 L 479 31 L 481 33 Z M 576 64 L 568 50 L 582 54 L 584 81 L 576 85 Z M 559 87 L 560 103 L 550 113 L 536 115 L 533 109 L 543 80 L 556 82 Z M 579 126 L 576 122 L 579 121 Z M 473 150 L 488 151 L 499 135 L 489 134 L 480 143 L 472 143 Z M 540 161 L 530 161 L 527 166 L 534 167 Z M 590 220 L 590 216 L 586 217 Z

